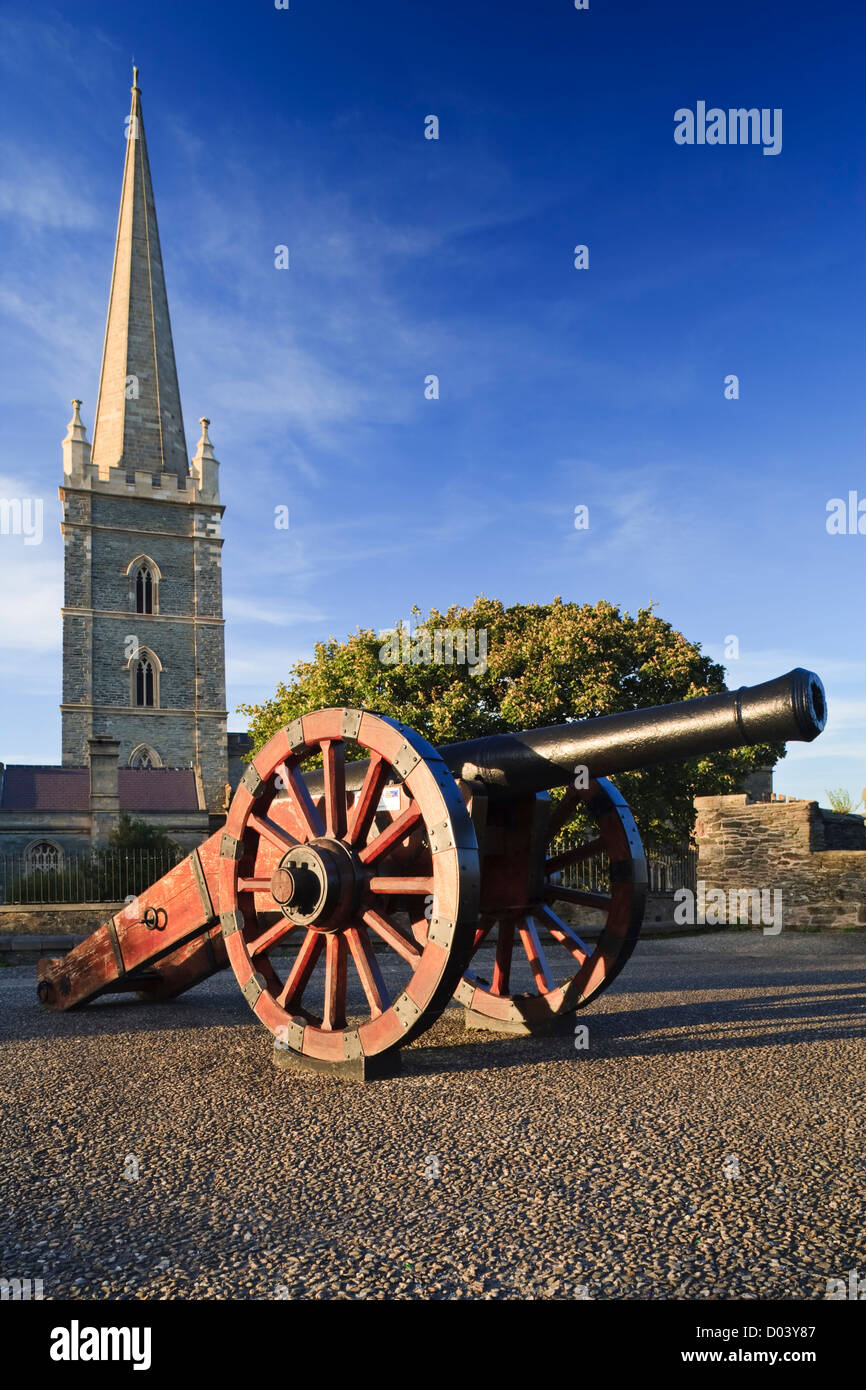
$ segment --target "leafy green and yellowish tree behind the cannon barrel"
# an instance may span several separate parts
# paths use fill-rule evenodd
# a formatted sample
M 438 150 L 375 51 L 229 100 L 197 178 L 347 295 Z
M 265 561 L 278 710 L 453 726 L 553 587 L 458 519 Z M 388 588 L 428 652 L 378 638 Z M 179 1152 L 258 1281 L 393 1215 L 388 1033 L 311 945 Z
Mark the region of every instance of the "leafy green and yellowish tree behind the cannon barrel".
M 405 645 L 409 660 L 388 662 L 382 634 L 359 628 L 345 641 L 316 645 L 311 660 L 292 667 L 272 699 L 242 705 L 253 749 L 299 714 L 335 705 L 363 705 L 403 720 L 432 744 L 513 733 L 571 719 L 591 719 L 667 705 L 726 689 L 724 669 L 670 623 L 616 605 L 514 603 L 478 596 L 470 607 L 431 609 Z M 471 631 L 475 664 L 430 660 L 434 632 Z M 392 649 L 393 644 L 391 644 Z M 738 791 L 748 773 L 784 756 L 762 744 L 646 771 L 617 776 L 638 827 L 656 845 L 681 844 L 694 826 L 692 798 Z

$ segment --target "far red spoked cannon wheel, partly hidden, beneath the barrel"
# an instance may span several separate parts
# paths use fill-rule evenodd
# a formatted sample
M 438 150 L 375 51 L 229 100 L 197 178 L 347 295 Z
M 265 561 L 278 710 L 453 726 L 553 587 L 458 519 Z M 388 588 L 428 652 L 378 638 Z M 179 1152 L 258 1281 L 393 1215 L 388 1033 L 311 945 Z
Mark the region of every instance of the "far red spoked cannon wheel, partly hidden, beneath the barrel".
M 617 977 L 641 933 L 646 899 L 646 859 L 631 812 L 616 787 L 605 777 L 585 790 L 569 788 L 552 810 L 548 845 L 574 815 L 584 808 L 598 834 L 587 844 L 548 853 L 541 894 L 521 905 L 482 912 L 475 931 L 475 951 L 495 937 L 492 977 L 475 973 L 475 960 L 456 991 L 474 1026 L 499 1031 L 531 1031 L 559 1015 L 584 1008 Z M 607 885 L 571 888 L 562 884 L 570 865 L 605 856 Z M 603 930 L 588 945 L 580 929 L 569 926 L 555 912 L 555 903 L 573 903 L 605 913 Z M 567 976 L 563 977 L 564 970 Z M 528 988 L 520 987 L 524 976 Z

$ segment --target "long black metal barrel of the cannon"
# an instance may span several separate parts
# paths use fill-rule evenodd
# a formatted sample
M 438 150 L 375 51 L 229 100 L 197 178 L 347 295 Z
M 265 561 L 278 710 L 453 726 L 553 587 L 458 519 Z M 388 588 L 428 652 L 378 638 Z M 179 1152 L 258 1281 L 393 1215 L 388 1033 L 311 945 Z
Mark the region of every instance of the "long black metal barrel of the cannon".
M 578 766 L 589 777 L 609 777 L 751 744 L 810 742 L 826 723 L 820 677 L 798 666 L 762 685 L 443 744 L 439 753 L 455 777 L 499 799 L 564 787 Z M 346 766 L 349 791 L 361 785 L 366 767 L 366 762 Z M 313 792 L 321 791 L 321 773 L 306 781 Z

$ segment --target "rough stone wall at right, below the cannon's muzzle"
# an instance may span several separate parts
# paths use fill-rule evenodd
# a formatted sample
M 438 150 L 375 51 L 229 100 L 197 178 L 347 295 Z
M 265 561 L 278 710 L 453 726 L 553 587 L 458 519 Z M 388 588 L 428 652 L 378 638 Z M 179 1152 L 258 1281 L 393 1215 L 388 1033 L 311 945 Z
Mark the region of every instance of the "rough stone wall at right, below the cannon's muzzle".
M 783 930 L 866 929 L 862 816 L 815 801 L 696 796 L 698 878 L 706 891 L 780 890 Z

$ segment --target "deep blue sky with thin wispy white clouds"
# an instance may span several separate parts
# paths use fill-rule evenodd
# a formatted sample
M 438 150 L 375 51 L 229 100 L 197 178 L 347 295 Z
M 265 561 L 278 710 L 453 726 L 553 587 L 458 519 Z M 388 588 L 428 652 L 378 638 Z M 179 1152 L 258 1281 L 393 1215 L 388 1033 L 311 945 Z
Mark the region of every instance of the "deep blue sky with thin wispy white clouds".
M 866 498 L 865 40 L 802 0 L 0 7 L 0 495 L 44 499 L 42 545 L 0 537 L 0 758 L 60 759 L 60 439 L 72 396 L 93 425 L 135 56 L 229 710 L 413 602 L 656 600 L 716 659 L 737 635 L 730 685 L 817 670 L 827 731 L 776 785 L 859 796 L 866 535 L 826 507 Z M 781 108 L 781 153 L 677 145 L 699 100 Z

